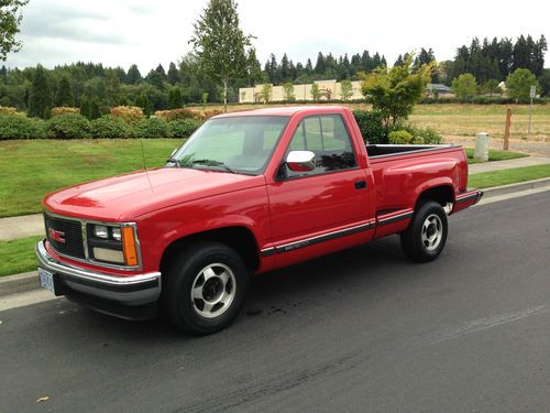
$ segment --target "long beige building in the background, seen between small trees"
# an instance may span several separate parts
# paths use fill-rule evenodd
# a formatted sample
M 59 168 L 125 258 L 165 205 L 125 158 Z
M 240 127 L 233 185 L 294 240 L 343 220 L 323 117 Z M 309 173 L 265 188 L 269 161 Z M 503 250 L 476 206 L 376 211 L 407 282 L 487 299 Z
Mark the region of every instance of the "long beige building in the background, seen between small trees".
M 337 80 L 316 80 L 319 88 L 319 99 L 320 100 L 331 100 L 331 99 L 342 99 L 340 94 L 341 84 Z M 352 81 L 352 96 L 350 99 L 363 99 L 361 94 L 361 81 Z M 311 96 L 311 86 L 308 85 L 293 85 L 294 98 L 295 100 L 314 100 Z M 241 87 L 239 89 L 239 102 L 240 104 L 254 104 L 258 101 L 264 101 L 263 96 L 264 85 L 256 85 L 254 87 Z M 270 101 L 285 101 L 285 90 L 283 86 L 273 86 L 271 88 Z

